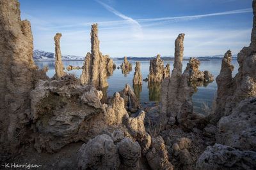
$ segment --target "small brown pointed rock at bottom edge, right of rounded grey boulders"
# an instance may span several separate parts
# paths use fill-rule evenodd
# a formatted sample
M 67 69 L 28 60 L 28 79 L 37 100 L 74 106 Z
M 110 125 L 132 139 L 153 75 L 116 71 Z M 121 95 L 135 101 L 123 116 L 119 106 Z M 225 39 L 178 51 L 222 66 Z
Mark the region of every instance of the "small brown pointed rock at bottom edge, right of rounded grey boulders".
M 151 169 L 173 170 L 173 165 L 168 160 L 168 152 L 166 151 L 164 140 L 161 136 L 152 138 L 150 148 L 146 157 Z

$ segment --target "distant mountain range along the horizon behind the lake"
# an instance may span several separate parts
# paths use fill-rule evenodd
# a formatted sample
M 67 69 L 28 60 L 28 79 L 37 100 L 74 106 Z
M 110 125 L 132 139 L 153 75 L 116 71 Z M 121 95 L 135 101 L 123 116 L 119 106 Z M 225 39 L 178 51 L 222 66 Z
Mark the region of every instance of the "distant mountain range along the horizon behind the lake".
M 156 57 L 156 56 L 154 56 Z M 127 57 L 128 60 L 150 60 L 154 57 Z M 184 57 L 184 60 L 189 60 L 190 57 Z M 223 55 L 212 55 L 212 56 L 202 56 L 196 57 L 199 60 L 221 60 Z M 33 59 L 35 61 L 47 61 L 47 60 L 55 60 L 54 53 L 45 52 L 43 50 L 34 50 Z M 124 57 L 115 57 L 114 60 L 123 60 Z M 163 60 L 174 60 L 173 56 L 162 56 Z M 237 55 L 233 56 L 233 60 L 237 59 Z M 62 55 L 62 60 L 84 60 L 84 57 L 76 56 L 76 55 Z

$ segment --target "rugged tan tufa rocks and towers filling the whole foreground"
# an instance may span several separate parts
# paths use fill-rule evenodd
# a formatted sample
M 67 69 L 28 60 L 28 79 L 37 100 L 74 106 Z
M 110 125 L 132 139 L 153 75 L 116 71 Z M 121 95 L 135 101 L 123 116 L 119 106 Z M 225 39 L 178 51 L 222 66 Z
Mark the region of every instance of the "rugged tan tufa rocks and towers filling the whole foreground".
M 41 169 L 256 169 L 256 0 L 250 46 L 238 54 L 232 77 L 232 53 L 223 57 L 216 78 L 216 106 L 205 116 L 193 111 L 196 88 L 213 80 L 189 60 L 182 73 L 185 34 L 175 41 L 175 62 L 150 62 L 148 87 L 161 83 L 161 103 L 141 110 L 136 88 L 142 76 L 136 63 L 134 91 L 129 85 L 102 100 L 115 64 L 99 50 L 92 25 L 91 53 L 81 78 L 63 71 L 60 37 L 56 74 L 38 70 L 33 35 L 20 20 L 17 0 L 0 1 L 0 150 L 1 164 L 39 164 Z M 122 69 L 130 70 L 124 60 Z M 138 92 L 137 91 L 137 92 Z M 104 102 L 105 101 L 105 102 Z

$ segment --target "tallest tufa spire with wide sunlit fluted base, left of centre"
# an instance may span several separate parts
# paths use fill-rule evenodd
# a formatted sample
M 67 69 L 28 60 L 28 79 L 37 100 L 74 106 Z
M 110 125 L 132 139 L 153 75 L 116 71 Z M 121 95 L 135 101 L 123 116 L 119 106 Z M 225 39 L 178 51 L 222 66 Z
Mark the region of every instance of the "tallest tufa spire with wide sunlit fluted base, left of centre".
M 108 87 L 107 77 L 113 74 L 115 64 L 108 55 L 102 55 L 99 50 L 98 25 L 92 25 L 91 53 L 87 53 L 84 59 L 81 83 L 83 85 L 95 85 L 97 89 Z

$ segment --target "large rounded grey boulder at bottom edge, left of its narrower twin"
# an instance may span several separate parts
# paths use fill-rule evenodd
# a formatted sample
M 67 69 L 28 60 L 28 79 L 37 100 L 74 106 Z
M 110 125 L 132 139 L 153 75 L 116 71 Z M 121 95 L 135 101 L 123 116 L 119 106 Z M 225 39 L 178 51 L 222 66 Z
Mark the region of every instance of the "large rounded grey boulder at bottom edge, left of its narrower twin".
M 117 169 L 118 150 L 110 136 L 102 134 L 83 144 L 78 152 L 80 169 Z

